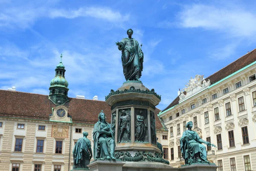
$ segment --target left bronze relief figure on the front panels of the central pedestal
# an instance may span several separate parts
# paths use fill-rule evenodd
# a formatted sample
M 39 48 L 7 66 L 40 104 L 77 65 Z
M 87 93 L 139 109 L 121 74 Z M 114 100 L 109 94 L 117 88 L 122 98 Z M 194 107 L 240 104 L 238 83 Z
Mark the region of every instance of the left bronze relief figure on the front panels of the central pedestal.
M 126 111 L 122 110 L 121 117 L 119 118 L 119 143 L 131 142 L 130 120 L 131 120 L 130 114 L 126 114 Z M 126 137 L 124 137 L 124 134 L 126 134 Z

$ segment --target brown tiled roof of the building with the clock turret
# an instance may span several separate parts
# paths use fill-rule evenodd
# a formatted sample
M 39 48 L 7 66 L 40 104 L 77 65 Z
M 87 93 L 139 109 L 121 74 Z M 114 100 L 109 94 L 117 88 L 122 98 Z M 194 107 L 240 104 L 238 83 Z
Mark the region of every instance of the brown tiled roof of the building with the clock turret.
M 69 108 L 68 114 L 72 116 L 73 123 L 95 124 L 101 110 L 106 114 L 106 121 L 111 122 L 111 107 L 105 101 L 69 98 L 69 102 L 64 105 Z M 0 117 L 48 121 L 53 107 L 55 104 L 47 95 L 0 90 Z M 160 110 L 156 108 L 155 118 L 158 130 L 164 129 L 157 117 L 159 112 Z

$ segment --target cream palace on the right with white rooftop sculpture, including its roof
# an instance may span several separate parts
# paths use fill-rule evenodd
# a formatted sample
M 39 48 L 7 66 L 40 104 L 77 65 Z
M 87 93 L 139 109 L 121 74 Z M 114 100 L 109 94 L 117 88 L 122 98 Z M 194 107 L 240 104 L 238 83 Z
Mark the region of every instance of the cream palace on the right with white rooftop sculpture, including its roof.
M 256 49 L 206 79 L 196 75 L 158 114 L 169 129 L 170 165 L 180 167 L 180 137 L 186 123 L 203 140 L 218 171 L 256 170 Z

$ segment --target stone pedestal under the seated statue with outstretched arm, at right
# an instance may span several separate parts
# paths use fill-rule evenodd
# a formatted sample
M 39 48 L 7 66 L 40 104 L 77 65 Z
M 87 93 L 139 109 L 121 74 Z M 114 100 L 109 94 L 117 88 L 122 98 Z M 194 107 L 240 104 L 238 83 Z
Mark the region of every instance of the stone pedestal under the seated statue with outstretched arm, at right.
M 215 163 L 194 163 L 191 165 L 182 165 L 181 171 L 216 171 L 218 166 Z

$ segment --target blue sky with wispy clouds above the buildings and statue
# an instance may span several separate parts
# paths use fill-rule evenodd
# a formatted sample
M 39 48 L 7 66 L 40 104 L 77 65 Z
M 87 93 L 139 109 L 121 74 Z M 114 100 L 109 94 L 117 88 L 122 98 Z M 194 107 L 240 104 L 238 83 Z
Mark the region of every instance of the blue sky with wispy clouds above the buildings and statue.
M 143 43 L 141 81 L 164 109 L 190 77 L 256 48 L 256 1 L 0 0 L 0 89 L 49 94 L 63 54 L 69 97 L 105 100 L 125 77 L 115 42 Z

